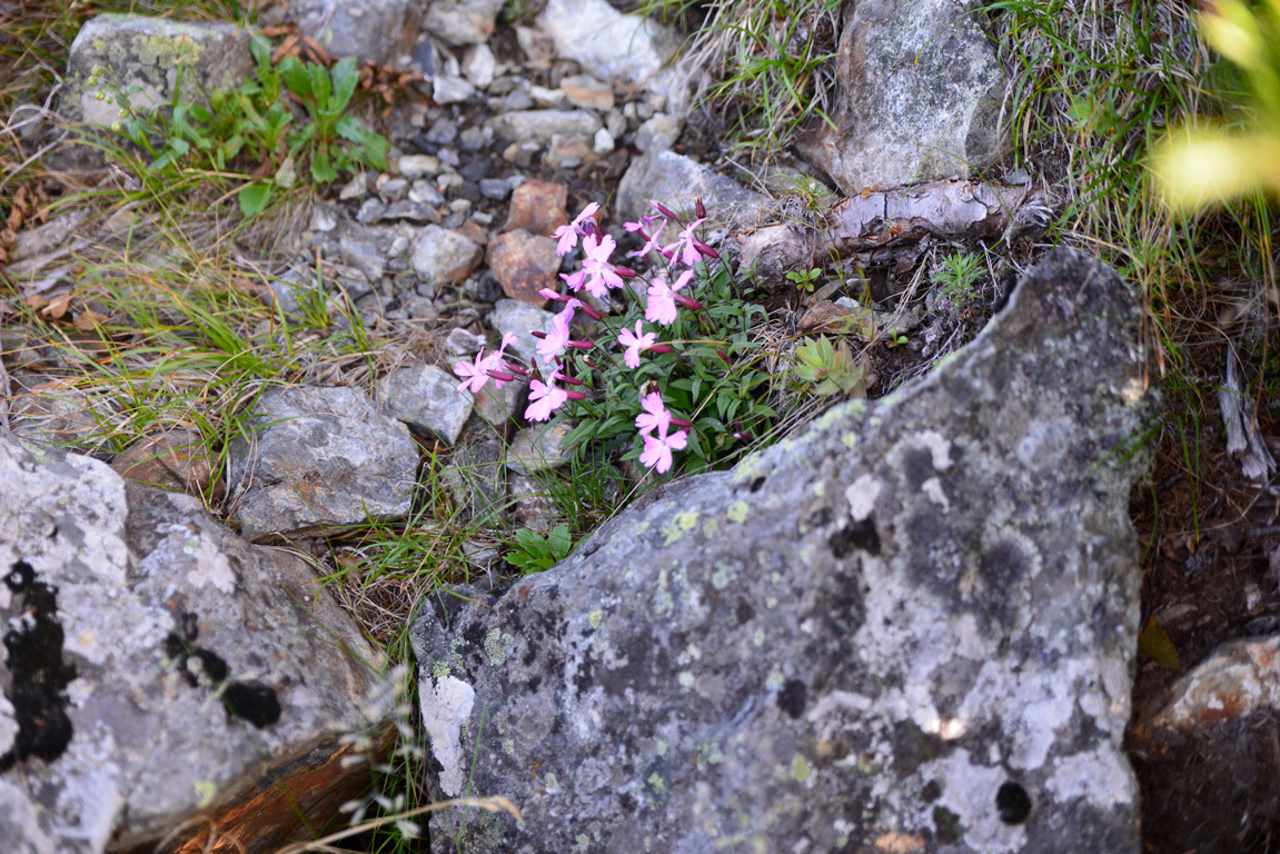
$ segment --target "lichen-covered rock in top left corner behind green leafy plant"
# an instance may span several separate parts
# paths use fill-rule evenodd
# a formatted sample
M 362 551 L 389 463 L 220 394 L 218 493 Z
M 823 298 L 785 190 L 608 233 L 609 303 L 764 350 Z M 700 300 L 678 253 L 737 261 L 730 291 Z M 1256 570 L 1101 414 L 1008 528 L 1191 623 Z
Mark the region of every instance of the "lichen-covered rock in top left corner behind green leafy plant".
M 141 109 L 169 104 L 179 81 L 183 101 L 234 88 L 253 72 L 248 42 L 250 31 L 230 23 L 97 15 L 72 42 L 59 113 L 70 123 L 109 127 L 120 118 L 113 87 L 119 92 L 136 87 L 129 102 Z M 68 157 L 90 165 L 93 152 L 76 146 Z

